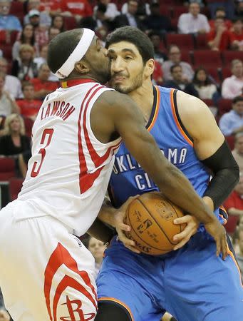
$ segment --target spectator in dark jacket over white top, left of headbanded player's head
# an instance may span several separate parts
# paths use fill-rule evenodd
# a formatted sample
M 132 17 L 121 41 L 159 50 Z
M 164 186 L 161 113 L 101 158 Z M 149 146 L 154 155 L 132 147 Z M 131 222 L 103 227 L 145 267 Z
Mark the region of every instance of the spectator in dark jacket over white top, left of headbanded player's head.
M 28 81 L 37 76 L 37 64 L 33 62 L 35 51 L 29 44 L 22 44 L 19 48 L 19 58 L 13 61 L 12 75 L 21 81 Z

